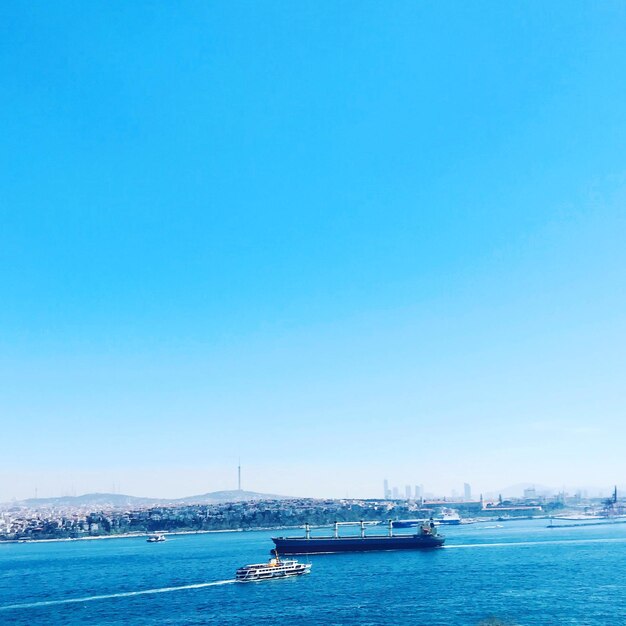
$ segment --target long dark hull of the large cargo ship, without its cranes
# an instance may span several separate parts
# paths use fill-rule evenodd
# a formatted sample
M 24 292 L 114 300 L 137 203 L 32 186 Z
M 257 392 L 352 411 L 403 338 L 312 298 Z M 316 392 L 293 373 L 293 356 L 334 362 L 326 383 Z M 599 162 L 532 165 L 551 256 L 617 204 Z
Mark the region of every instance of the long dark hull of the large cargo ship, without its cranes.
M 272 537 L 279 554 L 369 552 L 374 550 L 424 550 L 439 548 L 441 535 L 395 535 L 370 537 Z

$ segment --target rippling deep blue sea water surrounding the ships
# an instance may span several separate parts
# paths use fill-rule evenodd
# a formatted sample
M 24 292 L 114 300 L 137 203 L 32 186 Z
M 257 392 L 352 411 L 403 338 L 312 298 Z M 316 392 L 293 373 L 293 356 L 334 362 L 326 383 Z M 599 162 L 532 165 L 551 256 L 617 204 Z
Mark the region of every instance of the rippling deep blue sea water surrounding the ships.
M 268 558 L 271 532 L 0 544 L 0 624 L 626 625 L 626 525 L 494 526 L 446 528 L 440 550 L 312 556 L 309 576 L 250 584 L 230 581 Z

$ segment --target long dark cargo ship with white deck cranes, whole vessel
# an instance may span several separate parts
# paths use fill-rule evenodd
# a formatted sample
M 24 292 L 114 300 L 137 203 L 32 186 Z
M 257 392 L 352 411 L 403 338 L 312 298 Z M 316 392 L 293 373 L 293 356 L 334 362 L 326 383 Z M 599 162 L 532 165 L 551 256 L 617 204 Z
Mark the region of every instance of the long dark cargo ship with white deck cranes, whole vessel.
M 359 524 L 360 535 L 339 536 L 339 526 Z M 311 527 L 306 524 L 304 537 L 272 537 L 276 551 L 280 554 L 329 554 L 333 552 L 369 552 L 379 550 L 423 550 L 439 548 L 445 537 L 439 535 L 435 523 L 430 520 L 422 524 L 418 532 L 411 535 L 394 535 L 393 522 L 389 520 L 386 535 L 366 535 L 365 522 L 335 522 L 332 536 L 311 536 Z

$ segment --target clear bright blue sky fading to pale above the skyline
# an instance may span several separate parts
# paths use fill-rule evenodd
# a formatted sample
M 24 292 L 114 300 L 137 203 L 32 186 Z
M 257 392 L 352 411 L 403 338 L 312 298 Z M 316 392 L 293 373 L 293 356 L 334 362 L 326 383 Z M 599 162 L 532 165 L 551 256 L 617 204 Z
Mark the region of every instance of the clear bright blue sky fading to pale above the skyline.
M 622 2 L 0 19 L 0 500 L 624 479 Z

